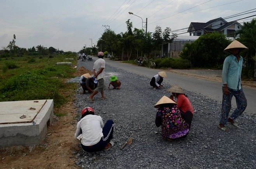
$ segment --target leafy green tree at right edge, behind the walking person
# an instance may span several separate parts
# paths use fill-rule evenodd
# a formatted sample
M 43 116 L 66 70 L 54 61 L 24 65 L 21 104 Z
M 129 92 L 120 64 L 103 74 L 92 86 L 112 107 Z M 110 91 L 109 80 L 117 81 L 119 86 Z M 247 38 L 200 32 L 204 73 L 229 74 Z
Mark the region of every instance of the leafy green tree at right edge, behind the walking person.
M 235 32 L 235 36 L 237 35 L 239 35 L 237 40 L 249 48 L 246 52 L 246 65 L 254 70 L 254 73 L 250 74 L 254 74 L 253 76 L 256 77 L 256 19 L 252 19 L 251 22 L 244 22 L 242 29 Z

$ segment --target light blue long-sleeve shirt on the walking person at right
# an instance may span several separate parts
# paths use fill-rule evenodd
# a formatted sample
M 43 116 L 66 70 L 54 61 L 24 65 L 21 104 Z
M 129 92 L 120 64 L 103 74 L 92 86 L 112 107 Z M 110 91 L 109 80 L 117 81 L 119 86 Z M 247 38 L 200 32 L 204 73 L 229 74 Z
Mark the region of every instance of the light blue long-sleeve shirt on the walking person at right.
M 229 55 L 225 58 L 222 69 L 222 83 L 227 84 L 228 88 L 240 90 L 241 73 L 242 73 L 243 58 L 240 56 L 239 62 L 234 55 Z

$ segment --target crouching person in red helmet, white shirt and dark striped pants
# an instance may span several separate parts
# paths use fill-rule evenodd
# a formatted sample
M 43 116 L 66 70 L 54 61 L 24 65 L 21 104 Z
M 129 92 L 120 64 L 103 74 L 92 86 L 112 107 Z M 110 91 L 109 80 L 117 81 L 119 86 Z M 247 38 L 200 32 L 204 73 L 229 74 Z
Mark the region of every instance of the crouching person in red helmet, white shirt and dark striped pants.
M 81 140 L 83 151 L 97 152 L 110 149 L 114 145 L 114 142 L 111 141 L 114 122 L 107 120 L 104 125 L 102 118 L 95 115 L 94 110 L 90 107 L 85 107 L 81 114 L 74 138 Z

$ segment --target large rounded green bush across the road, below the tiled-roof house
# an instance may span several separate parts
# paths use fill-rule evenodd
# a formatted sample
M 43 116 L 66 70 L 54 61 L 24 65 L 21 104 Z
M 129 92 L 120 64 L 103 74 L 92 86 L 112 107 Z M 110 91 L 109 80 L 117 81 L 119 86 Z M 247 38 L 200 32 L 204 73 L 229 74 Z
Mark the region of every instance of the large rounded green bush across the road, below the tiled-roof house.
M 191 44 L 185 44 L 180 57 L 191 62 L 193 67 L 214 67 L 225 60 L 223 50 L 230 44 L 224 34 L 214 32 L 200 36 Z

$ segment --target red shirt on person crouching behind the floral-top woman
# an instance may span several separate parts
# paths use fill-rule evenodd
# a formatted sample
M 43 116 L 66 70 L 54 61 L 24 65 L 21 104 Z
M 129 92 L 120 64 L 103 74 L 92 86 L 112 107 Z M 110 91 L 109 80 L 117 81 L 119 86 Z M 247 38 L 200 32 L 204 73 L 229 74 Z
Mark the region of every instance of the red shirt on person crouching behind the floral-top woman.
M 177 96 L 177 106 L 183 113 L 191 111 L 191 113 L 194 114 L 193 107 L 189 99 L 184 94 L 179 94 Z

